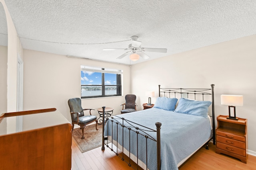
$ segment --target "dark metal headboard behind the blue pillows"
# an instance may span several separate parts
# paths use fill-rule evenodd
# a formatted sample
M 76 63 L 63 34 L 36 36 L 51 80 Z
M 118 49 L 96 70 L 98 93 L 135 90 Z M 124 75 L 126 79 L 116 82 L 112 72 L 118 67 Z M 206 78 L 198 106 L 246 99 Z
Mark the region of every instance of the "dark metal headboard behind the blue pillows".
M 162 94 L 162 96 L 169 98 L 190 98 L 202 101 L 207 98 L 212 102 L 212 133 L 213 144 L 215 145 L 214 84 L 211 84 L 211 88 L 161 88 L 160 85 L 158 86 L 159 97 Z

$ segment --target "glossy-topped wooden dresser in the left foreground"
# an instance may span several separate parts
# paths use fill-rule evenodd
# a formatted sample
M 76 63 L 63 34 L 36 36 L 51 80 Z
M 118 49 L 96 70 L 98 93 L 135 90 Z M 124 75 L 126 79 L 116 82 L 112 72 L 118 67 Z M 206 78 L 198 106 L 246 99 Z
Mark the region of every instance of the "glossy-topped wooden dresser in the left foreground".
M 0 115 L 0 145 L 0 169 L 71 169 L 72 125 L 55 108 Z

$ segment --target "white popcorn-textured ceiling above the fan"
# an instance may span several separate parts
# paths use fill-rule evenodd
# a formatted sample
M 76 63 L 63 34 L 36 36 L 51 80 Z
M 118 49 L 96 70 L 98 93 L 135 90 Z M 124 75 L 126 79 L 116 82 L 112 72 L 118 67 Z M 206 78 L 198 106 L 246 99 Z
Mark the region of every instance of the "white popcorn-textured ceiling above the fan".
M 150 59 L 256 34 L 256 0 L 5 0 L 24 49 L 115 63 L 138 36 Z M 130 63 L 131 62 L 131 63 Z

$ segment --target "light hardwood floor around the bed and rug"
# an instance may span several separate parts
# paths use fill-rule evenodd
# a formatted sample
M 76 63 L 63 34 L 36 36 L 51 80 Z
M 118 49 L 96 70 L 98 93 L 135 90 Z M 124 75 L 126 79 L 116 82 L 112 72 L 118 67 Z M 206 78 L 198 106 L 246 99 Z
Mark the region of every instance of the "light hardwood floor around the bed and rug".
M 132 170 L 114 152 L 101 147 L 81 153 L 72 141 L 71 170 Z M 215 145 L 209 144 L 209 150 L 200 149 L 180 170 L 256 170 L 256 157 L 248 155 L 247 164 L 236 158 L 215 153 Z

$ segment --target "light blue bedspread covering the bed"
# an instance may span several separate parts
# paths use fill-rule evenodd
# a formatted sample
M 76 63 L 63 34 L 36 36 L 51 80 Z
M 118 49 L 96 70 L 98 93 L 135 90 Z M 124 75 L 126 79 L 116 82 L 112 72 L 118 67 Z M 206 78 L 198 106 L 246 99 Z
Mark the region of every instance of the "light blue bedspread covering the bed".
M 194 152 L 198 147 L 202 146 L 210 138 L 211 125 L 208 118 L 167 111 L 164 109 L 151 108 L 132 113 L 118 115 L 127 120 L 141 124 L 151 129 L 156 129 L 155 123 L 162 123 L 161 126 L 161 170 L 178 170 L 177 164 Z M 122 120 L 120 120 L 122 122 Z M 116 130 L 113 130 L 112 125 L 108 121 L 108 135 L 116 139 Z M 125 123 L 127 124 L 127 123 Z M 113 123 L 113 129 L 116 128 L 116 123 Z M 149 132 L 156 139 L 156 133 Z M 104 135 L 107 135 L 105 128 Z M 136 155 L 136 133 L 132 134 L 130 139 L 134 144 L 131 145 L 132 154 Z M 122 127 L 118 127 L 118 143 L 122 145 Z M 144 137 L 139 138 L 139 154 L 138 158 L 146 163 L 146 141 Z M 128 130 L 124 131 L 124 147 L 129 150 Z M 157 169 L 156 159 L 156 142 L 148 140 L 148 169 Z

